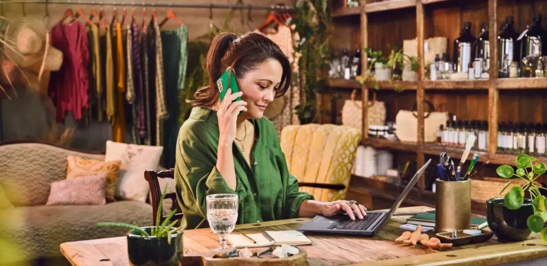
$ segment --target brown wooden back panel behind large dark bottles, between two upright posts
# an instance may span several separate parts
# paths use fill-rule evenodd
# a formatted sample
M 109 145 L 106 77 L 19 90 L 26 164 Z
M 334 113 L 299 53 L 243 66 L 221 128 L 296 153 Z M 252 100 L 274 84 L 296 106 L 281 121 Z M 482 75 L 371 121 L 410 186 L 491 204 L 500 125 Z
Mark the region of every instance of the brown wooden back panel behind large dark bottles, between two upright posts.
M 488 3 L 485 0 L 448 1 L 426 5 L 424 37 L 446 37 L 448 39 L 448 53 L 453 60 L 454 40 L 464 21 L 471 22 L 471 32 L 477 37 L 481 24 L 488 22 Z

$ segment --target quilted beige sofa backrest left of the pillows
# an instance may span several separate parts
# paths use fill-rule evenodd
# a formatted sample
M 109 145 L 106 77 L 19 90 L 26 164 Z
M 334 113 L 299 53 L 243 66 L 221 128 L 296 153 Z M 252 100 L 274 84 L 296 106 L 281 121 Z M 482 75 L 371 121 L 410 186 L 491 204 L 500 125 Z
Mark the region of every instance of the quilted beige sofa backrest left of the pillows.
M 44 205 L 51 182 L 66 178 L 67 157 L 104 160 L 104 155 L 74 152 L 42 143 L 5 144 L 0 148 L 0 184 L 14 206 Z

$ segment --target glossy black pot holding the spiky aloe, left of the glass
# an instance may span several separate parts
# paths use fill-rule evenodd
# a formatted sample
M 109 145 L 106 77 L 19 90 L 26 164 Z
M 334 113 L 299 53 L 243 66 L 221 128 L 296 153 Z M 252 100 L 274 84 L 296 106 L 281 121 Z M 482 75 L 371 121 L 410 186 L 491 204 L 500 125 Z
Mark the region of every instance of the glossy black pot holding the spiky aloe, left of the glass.
M 148 234 L 153 227 L 142 227 Z M 180 265 L 183 258 L 183 232 L 172 234 L 171 244 L 167 236 L 145 237 L 131 230 L 127 235 L 127 253 L 131 266 Z

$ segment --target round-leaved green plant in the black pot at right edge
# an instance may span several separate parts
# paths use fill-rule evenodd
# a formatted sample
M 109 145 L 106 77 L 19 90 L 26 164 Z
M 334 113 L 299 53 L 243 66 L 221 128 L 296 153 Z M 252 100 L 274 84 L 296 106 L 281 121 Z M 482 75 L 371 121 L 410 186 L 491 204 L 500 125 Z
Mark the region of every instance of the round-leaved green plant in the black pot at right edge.
M 519 154 L 516 158 L 516 172 L 513 167 L 509 165 L 501 165 L 496 169 L 499 176 L 503 178 L 511 178 L 516 176 L 515 179 L 507 182 L 502 189 L 503 193 L 505 189 L 509 187 L 509 184 L 515 180 L 525 181 L 522 186 L 515 186 L 509 189 L 509 192 L 504 196 L 504 203 L 509 210 L 518 210 L 522 204 L 524 204 L 525 191 L 528 191 L 532 200 L 532 206 L 534 208 L 534 214 L 529 216 L 526 223 L 528 228 L 532 232 L 542 233 L 542 240 L 547 244 L 547 230 L 545 230 L 545 222 L 547 222 L 547 198 L 540 193 L 540 189 L 545 189 L 542 186 L 534 184 L 534 181 L 540 176 L 545 174 L 547 166 L 544 163 L 534 163 L 536 158 L 529 157 L 526 154 Z M 528 167 L 531 170 L 528 171 Z

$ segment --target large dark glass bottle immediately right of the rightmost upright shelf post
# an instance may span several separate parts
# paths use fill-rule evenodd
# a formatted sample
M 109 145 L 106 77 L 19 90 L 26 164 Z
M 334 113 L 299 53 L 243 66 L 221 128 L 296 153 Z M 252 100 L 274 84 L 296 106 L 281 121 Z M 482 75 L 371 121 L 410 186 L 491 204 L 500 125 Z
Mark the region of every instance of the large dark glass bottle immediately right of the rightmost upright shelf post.
M 515 19 L 512 16 L 505 18 L 505 23 L 502 25 L 498 35 L 498 64 L 500 72 L 501 70 L 508 70 L 512 61 L 519 61 L 519 47 L 516 45 L 516 39 L 519 37 L 519 34 L 514 29 L 514 21 Z M 500 78 L 502 77 L 500 76 Z

